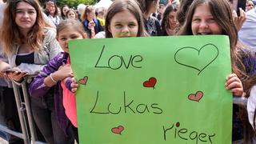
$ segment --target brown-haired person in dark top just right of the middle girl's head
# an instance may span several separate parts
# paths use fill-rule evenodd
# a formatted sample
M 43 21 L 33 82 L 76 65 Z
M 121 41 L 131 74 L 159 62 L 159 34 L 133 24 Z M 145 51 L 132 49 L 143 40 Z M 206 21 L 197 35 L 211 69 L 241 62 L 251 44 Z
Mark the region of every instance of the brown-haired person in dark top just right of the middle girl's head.
M 159 0 L 138 0 L 144 17 L 144 25 L 150 36 L 158 36 L 161 34 L 160 22 L 152 14 L 158 10 Z

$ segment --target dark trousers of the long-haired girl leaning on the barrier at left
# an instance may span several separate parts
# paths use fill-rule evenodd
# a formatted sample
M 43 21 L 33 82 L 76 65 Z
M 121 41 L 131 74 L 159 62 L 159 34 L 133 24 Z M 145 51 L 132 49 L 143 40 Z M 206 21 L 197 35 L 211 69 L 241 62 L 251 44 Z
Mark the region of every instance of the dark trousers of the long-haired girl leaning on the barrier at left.
M 30 99 L 34 122 L 46 139 L 46 142 L 50 144 L 74 144 L 72 134 L 66 135 L 58 126 L 54 110 L 54 94 L 46 94 L 43 98 Z

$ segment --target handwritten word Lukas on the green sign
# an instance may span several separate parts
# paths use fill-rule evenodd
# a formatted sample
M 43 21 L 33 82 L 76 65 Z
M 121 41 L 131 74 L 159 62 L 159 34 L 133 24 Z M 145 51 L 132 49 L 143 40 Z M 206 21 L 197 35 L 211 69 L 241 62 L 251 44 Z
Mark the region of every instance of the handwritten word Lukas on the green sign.
M 159 107 L 158 103 L 145 104 L 145 103 L 135 103 L 134 100 L 128 101 L 126 98 L 126 92 L 123 93 L 123 101 L 112 103 L 107 102 L 105 108 L 105 101 L 99 102 L 99 94 L 97 92 L 97 97 L 94 102 L 94 107 L 90 110 L 90 113 L 94 114 L 162 114 L 162 109 Z M 105 97 L 105 96 L 102 96 Z M 102 110 L 103 109 L 103 110 Z

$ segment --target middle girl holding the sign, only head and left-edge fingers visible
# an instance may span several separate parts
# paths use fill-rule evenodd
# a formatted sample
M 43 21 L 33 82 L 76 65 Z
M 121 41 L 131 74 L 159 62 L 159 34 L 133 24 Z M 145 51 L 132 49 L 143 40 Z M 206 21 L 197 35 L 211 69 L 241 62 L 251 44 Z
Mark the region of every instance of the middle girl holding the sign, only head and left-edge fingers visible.
M 106 14 L 106 38 L 148 36 L 144 28 L 142 11 L 134 0 L 114 1 Z M 71 90 L 77 91 L 78 83 L 71 83 Z

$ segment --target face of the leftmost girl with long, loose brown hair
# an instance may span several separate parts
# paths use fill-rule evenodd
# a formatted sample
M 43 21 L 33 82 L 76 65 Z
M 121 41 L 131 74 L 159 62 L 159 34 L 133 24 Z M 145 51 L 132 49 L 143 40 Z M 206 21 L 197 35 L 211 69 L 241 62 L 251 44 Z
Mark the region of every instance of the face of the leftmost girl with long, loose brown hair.
M 30 30 L 37 18 L 37 11 L 33 6 L 26 2 L 18 2 L 16 7 L 15 22 L 18 25 L 19 30 Z

